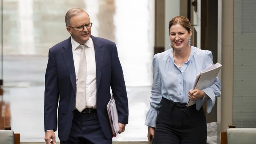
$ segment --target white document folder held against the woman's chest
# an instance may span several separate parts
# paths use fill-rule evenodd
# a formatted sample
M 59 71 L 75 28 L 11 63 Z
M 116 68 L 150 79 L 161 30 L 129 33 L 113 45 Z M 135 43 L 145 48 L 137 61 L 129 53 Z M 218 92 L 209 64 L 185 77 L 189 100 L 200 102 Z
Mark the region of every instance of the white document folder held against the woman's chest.
M 215 81 L 215 78 L 219 74 L 221 69 L 220 63 L 215 63 L 214 65 L 208 66 L 207 68 L 203 69 L 199 74 L 197 74 L 197 78 L 195 80 L 195 84 L 193 89 L 206 89 L 210 87 Z M 187 102 L 187 107 L 194 105 L 196 100 L 189 100 Z

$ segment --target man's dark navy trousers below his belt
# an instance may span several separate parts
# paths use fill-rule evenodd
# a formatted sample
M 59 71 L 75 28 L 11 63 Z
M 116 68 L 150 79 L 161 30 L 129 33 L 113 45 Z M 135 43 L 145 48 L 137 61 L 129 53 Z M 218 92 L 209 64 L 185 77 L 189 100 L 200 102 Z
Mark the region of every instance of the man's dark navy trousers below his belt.
M 74 110 L 74 117 L 69 139 L 61 144 L 112 144 L 100 127 L 97 113 L 80 113 Z

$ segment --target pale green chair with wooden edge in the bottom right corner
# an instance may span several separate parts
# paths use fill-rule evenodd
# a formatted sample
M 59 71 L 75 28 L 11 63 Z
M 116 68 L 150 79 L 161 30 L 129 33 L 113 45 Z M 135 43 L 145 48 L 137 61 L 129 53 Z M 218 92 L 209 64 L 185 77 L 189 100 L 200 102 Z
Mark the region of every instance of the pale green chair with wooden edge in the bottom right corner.
M 228 126 L 226 132 L 221 132 L 221 144 L 255 144 L 256 128 L 236 128 Z

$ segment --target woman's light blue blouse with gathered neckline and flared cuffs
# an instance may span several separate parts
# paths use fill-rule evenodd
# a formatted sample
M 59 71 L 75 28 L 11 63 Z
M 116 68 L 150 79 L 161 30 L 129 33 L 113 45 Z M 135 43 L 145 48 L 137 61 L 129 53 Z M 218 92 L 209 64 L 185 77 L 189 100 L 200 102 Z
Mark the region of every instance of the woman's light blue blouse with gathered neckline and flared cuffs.
M 197 74 L 210 65 L 213 65 L 211 51 L 200 50 L 194 46 L 191 46 L 188 61 L 182 65 L 181 69 L 174 63 L 173 48 L 154 55 L 152 96 L 150 96 L 150 109 L 147 112 L 145 125 L 156 126 L 162 97 L 174 102 L 187 103 L 188 92 L 193 88 Z M 210 113 L 215 97 L 221 94 L 219 79 L 216 78 L 210 87 L 202 91 L 208 95 L 209 99 L 197 99 L 196 108 L 199 111 L 207 100 L 207 112 Z

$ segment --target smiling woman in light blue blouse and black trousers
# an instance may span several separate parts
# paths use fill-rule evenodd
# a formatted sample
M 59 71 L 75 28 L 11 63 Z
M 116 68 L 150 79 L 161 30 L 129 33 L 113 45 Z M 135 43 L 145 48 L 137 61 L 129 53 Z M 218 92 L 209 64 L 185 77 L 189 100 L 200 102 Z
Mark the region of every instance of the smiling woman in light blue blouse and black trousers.
M 197 74 L 213 64 L 212 54 L 190 45 L 191 24 L 177 16 L 169 22 L 172 48 L 154 55 L 153 84 L 150 109 L 145 124 L 148 141 L 155 144 L 206 144 L 206 117 L 202 104 L 210 113 L 215 97 L 221 94 L 218 78 L 206 89 L 195 89 Z M 186 107 L 188 100 L 196 104 Z

